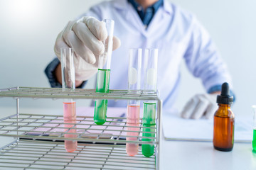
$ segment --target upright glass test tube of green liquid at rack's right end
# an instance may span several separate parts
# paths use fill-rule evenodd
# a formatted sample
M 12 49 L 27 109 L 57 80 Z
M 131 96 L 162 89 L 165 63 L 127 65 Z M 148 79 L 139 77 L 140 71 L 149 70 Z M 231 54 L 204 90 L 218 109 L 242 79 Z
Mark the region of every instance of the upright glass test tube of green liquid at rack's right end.
M 156 93 L 157 61 L 158 49 L 146 49 L 144 53 L 145 93 Z M 156 125 L 156 101 L 144 101 L 142 125 L 142 141 L 154 141 L 154 127 Z M 145 157 L 151 157 L 151 155 L 154 154 L 154 145 L 142 144 L 142 154 Z

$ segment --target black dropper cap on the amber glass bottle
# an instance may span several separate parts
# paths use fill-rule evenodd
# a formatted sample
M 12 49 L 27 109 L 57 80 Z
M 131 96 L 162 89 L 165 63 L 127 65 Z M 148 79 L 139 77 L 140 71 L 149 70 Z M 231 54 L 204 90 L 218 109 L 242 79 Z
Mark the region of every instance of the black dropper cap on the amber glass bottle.
M 230 96 L 229 85 L 226 82 L 221 86 L 221 94 L 217 96 L 217 103 L 228 105 L 233 103 L 233 96 Z

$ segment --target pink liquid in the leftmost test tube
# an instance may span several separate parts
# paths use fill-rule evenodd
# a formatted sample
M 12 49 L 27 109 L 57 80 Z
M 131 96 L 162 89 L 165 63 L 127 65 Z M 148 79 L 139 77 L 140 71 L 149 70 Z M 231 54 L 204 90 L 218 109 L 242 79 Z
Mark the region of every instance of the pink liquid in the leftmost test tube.
M 75 134 L 76 129 L 74 127 L 76 123 L 76 113 L 75 113 L 75 102 L 63 102 L 63 109 L 64 109 L 64 123 L 73 123 L 70 125 L 65 124 L 65 131 L 68 130 L 68 128 L 72 128 L 68 130 L 67 134 L 64 134 L 64 137 L 77 137 Z M 74 152 L 78 147 L 78 141 L 75 140 L 65 140 L 65 149 L 67 152 Z

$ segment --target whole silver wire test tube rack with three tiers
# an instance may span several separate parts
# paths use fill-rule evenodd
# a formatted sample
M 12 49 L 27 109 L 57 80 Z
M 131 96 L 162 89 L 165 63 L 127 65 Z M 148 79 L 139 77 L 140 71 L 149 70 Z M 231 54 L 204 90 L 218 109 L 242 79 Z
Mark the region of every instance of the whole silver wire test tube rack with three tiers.
M 0 169 L 159 169 L 161 139 L 161 100 L 154 91 L 110 90 L 108 93 L 96 93 L 95 89 L 75 89 L 62 91 L 60 88 L 14 87 L 1 89 L 0 97 L 16 99 L 16 113 L 0 120 L 0 136 L 15 137 L 14 142 L 0 148 Z M 64 138 L 68 130 L 63 130 L 63 115 L 39 115 L 20 113 L 22 98 L 74 98 L 74 99 L 112 99 L 156 101 L 155 137 L 151 142 L 142 141 L 142 120 L 139 126 L 138 140 L 123 140 L 126 137 L 126 118 L 109 118 L 105 125 L 95 125 L 92 117 L 78 116 L 73 128 L 80 132 L 76 138 Z M 124 119 L 117 123 L 117 119 Z M 80 128 L 87 126 L 87 128 Z M 88 130 L 90 133 L 84 136 Z M 105 131 L 117 131 L 119 135 L 105 134 Z M 48 128 L 40 135 L 30 132 L 38 128 Z M 53 129 L 62 129 L 54 132 Z M 99 132 L 100 130 L 100 132 Z M 78 140 L 78 149 L 65 151 L 64 140 Z M 130 157 L 125 150 L 125 143 L 139 144 L 139 153 Z M 142 144 L 155 146 L 154 155 L 144 157 Z

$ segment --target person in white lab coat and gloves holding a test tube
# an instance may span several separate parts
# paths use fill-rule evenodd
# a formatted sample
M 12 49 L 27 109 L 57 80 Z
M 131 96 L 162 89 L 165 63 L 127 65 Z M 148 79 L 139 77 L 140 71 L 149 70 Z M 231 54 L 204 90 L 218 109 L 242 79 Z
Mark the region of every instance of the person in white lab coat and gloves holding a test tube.
M 191 98 L 181 112 L 183 118 L 210 118 L 216 108 L 221 84 L 231 85 L 230 74 L 208 32 L 193 14 L 167 0 L 114 0 L 92 6 L 78 20 L 70 21 L 55 41 L 55 58 L 46 75 L 52 87 L 60 87 L 60 48 L 75 51 L 75 79 L 78 87 L 97 73 L 97 60 L 104 52 L 107 30 L 101 22 L 114 20 L 110 89 L 127 89 L 128 50 L 158 48 L 157 88 L 164 110 L 174 107 L 184 59 L 194 77 L 202 80 L 206 94 Z M 122 42 L 122 45 L 120 45 Z M 189 84 L 188 84 L 188 88 Z M 191 89 L 193 91 L 193 89 Z M 184 99 L 185 100 L 185 99 Z M 108 106 L 126 107 L 127 101 L 109 101 Z

